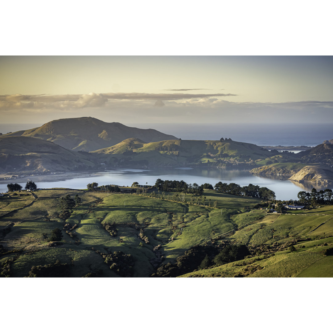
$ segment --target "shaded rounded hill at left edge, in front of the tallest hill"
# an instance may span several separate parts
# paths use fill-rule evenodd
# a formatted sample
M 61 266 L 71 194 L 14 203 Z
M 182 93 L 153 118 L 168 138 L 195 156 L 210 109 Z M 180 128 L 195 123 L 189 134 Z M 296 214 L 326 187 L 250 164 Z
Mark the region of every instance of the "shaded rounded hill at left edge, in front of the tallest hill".
M 0 170 L 72 171 L 96 168 L 89 153 L 73 152 L 53 142 L 29 137 L 0 137 Z

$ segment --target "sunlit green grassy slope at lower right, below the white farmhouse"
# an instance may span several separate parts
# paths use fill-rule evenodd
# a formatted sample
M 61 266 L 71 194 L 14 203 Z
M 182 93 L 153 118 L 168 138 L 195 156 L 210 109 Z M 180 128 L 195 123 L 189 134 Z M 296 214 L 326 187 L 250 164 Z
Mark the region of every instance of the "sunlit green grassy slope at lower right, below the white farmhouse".
M 252 211 L 235 215 L 233 222 L 239 226 L 242 224 L 244 228 L 236 231 L 231 238 L 249 245 L 280 245 L 295 237 L 310 238 L 306 241 L 300 239 L 299 245 L 295 245 L 296 252 L 284 249 L 254 263 L 251 263 L 253 258 L 248 258 L 182 276 L 233 277 L 238 273 L 244 274 L 244 268 L 252 268 L 253 272 L 248 277 L 333 277 L 333 256 L 323 256 L 322 253 L 333 245 L 333 206 L 313 209 L 309 216 L 299 213 L 266 215 L 261 211 Z M 316 230 L 312 231 L 314 228 Z M 246 265 L 240 266 L 242 263 Z

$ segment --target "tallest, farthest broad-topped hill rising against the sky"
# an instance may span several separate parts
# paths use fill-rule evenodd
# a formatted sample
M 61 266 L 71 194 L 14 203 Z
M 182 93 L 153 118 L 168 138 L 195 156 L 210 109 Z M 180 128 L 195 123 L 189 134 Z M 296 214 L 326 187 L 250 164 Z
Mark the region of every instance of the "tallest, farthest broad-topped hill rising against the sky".
M 144 142 L 176 139 L 153 129 L 128 127 L 121 123 L 105 123 L 92 117 L 53 120 L 41 127 L 8 133 L 7 136 L 24 136 L 52 141 L 74 151 L 95 151 L 110 147 L 127 138 L 140 138 Z

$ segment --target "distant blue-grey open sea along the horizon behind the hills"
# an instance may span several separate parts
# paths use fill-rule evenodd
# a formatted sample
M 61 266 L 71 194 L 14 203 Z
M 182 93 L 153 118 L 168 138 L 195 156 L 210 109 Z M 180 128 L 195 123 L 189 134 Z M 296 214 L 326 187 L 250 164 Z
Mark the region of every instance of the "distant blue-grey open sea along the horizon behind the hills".
M 0 133 L 16 132 L 39 127 L 43 124 L 0 124 Z M 258 146 L 317 146 L 325 140 L 333 139 L 333 120 L 326 124 L 285 123 L 125 123 L 126 126 L 152 128 L 174 135 L 182 140 L 219 140 L 231 138 L 233 141 L 252 143 Z

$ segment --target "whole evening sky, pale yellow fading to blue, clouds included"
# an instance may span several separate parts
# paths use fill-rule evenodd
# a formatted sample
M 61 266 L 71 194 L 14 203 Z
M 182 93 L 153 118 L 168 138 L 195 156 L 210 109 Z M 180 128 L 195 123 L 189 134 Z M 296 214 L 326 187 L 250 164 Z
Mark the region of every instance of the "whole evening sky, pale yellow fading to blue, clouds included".
M 3 124 L 333 123 L 332 56 L 0 56 L 0 73 Z

